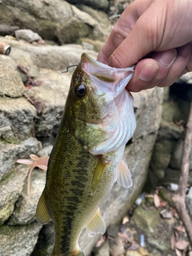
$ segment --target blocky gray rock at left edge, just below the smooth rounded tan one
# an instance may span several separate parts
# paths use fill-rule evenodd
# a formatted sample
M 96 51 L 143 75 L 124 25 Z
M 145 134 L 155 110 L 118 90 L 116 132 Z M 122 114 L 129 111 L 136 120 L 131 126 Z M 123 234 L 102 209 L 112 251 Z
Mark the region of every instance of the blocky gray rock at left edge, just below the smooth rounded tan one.
M 34 133 L 37 111 L 25 98 L 0 97 L 0 134 L 3 141 L 18 142 Z

